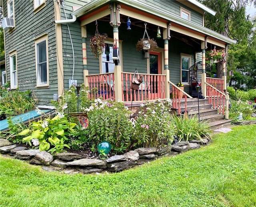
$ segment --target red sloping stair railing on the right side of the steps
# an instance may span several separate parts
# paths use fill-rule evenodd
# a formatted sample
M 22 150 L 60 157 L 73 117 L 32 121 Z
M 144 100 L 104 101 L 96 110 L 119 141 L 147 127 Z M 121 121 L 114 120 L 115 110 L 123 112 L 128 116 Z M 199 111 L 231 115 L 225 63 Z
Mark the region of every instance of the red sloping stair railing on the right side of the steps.
M 209 83 L 206 83 L 206 92 L 208 103 L 212 104 L 212 108 L 218 109 L 219 114 L 225 114 L 226 95 Z

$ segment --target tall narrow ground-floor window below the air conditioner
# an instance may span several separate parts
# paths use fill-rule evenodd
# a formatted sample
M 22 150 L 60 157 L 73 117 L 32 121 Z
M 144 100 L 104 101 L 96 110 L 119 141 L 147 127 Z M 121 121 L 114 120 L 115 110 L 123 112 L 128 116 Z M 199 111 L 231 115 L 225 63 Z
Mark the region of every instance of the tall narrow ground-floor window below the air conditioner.
M 17 51 L 9 53 L 10 56 L 10 85 L 11 89 L 17 89 L 18 87 L 18 73 L 17 73 Z M 15 59 L 15 64 L 14 64 Z

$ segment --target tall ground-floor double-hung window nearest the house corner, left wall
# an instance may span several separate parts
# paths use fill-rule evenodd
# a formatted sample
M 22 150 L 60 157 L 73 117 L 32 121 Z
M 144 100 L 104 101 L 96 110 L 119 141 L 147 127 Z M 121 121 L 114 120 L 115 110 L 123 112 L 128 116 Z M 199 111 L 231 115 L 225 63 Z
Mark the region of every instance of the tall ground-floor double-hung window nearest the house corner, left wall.
M 47 35 L 36 39 L 36 86 L 49 86 Z

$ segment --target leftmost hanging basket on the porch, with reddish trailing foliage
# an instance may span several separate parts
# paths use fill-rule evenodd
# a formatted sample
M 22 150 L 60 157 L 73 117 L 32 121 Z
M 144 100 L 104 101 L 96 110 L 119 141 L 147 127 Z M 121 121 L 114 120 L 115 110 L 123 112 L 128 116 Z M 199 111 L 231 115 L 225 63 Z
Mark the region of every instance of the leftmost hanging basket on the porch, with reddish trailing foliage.
M 103 53 L 102 49 L 105 47 L 105 41 L 108 38 L 107 34 L 100 34 L 98 31 L 98 23 L 96 21 L 95 35 L 90 39 L 90 48 L 94 57 L 98 59 L 99 55 Z

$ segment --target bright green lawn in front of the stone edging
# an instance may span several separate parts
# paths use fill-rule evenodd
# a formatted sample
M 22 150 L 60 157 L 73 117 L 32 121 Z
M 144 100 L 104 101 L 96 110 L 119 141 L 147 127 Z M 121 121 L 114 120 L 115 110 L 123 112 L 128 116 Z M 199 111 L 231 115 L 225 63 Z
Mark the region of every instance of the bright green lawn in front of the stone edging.
M 0 157 L 0 207 L 256 206 L 256 125 L 120 173 L 65 175 Z

